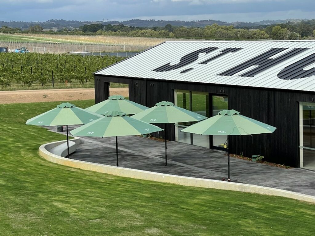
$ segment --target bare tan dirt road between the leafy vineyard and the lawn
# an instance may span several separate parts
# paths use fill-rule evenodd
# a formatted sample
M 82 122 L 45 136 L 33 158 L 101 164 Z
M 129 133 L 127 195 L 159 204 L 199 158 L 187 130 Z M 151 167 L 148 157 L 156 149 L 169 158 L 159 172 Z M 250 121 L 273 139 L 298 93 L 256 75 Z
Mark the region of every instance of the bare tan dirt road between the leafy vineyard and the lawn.
M 128 88 L 110 88 L 110 95 L 128 97 Z M 94 99 L 94 88 L 0 91 L 0 104 Z

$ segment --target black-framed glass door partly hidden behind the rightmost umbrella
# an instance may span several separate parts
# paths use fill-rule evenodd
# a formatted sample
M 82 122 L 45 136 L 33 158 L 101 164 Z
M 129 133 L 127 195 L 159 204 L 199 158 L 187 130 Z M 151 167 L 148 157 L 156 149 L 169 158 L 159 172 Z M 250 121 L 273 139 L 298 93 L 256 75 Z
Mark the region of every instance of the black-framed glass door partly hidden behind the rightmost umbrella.
M 218 115 L 220 111 L 228 110 L 228 98 L 226 96 L 212 96 L 212 116 Z M 224 148 L 227 143 L 227 135 L 213 135 L 212 146 Z

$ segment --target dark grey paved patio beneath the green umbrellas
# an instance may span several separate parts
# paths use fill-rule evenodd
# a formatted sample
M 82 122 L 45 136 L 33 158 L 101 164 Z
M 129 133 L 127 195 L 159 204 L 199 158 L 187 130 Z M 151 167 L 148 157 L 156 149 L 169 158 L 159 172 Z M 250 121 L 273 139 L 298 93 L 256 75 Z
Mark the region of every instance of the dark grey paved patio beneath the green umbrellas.
M 74 127 L 69 128 L 69 131 Z M 49 127 L 56 131 L 56 127 Z M 116 165 L 115 137 L 80 137 L 71 159 Z M 168 142 L 168 166 L 164 166 L 164 142 L 138 136 L 118 137 L 119 166 L 206 179 L 227 179 L 226 152 L 179 142 Z M 282 169 L 230 158 L 232 182 L 279 188 L 315 196 L 315 171 Z

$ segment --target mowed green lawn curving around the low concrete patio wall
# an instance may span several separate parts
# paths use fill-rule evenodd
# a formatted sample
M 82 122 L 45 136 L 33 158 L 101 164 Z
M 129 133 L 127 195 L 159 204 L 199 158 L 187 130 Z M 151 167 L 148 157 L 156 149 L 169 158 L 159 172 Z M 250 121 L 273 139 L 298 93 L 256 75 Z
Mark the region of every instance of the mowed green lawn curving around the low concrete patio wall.
M 65 136 L 25 121 L 59 103 L 0 104 L 1 236 L 314 234 L 314 204 L 123 178 L 44 160 L 39 145 Z M 84 108 L 94 101 L 72 103 Z

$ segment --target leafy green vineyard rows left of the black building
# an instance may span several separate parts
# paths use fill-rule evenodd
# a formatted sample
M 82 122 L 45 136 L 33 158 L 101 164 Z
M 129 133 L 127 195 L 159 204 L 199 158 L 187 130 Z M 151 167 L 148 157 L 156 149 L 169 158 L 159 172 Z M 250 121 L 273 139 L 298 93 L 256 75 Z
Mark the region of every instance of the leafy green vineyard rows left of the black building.
M 51 53 L 0 53 L 0 86 L 94 83 L 93 72 L 123 58 Z

